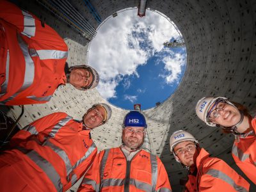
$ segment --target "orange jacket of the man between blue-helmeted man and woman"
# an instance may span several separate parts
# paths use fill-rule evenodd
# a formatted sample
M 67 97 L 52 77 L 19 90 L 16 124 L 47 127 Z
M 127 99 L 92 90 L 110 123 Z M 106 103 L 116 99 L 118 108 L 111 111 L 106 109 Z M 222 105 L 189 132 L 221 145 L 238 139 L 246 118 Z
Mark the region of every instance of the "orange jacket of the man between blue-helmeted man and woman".
M 186 191 L 249 191 L 250 184 L 230 168 L 225 161 L 209 157 L 209 153 L 201 149 L 196 158 L 197 174 L 189 175 Z

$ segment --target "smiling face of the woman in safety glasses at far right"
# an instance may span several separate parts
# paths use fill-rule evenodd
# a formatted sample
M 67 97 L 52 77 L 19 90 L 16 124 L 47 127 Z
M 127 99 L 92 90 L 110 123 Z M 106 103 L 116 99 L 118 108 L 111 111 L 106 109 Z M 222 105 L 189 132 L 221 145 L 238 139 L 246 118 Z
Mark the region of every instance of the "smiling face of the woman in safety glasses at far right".
M 212 106 L 213 105 L 214 104 L 212 104 Z M 212 108 L 212 106 L 209 108 L 209 110 Z M 216 111 L 216 107 L 214 108 L 215 109 L 212 110 L 212 113 L 214 113 L 214 110 Z M 209 119 L 211 120 L 211 122 L 219 124 L 223 127 L 231 127 L 233 125 L 236 125 L 241 118 L 239 110 L 228 103 L 225 103 L 223 108 L 221 110 L 218 110 L 218 113 L 219 115 L 216 118 L 211 118 L 212 115 L 210 115 Z

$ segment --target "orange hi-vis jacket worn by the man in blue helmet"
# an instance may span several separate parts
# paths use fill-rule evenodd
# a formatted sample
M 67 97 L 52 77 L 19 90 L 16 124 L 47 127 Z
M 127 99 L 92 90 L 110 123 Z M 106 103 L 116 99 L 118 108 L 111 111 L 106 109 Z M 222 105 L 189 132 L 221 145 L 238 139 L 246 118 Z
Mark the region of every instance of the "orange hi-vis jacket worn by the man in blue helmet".
M 172 191 L 159 157 L 140 150 L 127 161 L 120 147 L 101 151 L 78 191 Z

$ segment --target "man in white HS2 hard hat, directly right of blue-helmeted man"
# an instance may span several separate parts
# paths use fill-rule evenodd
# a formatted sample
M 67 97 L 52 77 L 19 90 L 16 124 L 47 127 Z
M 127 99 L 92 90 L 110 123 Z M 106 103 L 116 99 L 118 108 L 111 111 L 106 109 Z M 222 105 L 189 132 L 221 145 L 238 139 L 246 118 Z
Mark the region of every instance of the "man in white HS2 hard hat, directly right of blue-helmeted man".
M 170 150 L 176 161 L 188 169 L 184 191 L 249 191 L 250 184 L 241 175 L 225 161 L 210 157 L 189 132 L 173 132 Z

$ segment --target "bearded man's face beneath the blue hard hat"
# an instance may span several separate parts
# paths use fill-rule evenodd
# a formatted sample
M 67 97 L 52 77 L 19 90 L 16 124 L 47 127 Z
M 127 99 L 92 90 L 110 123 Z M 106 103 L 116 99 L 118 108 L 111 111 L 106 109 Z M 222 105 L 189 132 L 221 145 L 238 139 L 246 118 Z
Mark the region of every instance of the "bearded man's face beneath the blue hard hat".
M 143 144 L 144 136 L 144 127 L 125 127 L 122 132 L 124 145 L 134 149 Z

